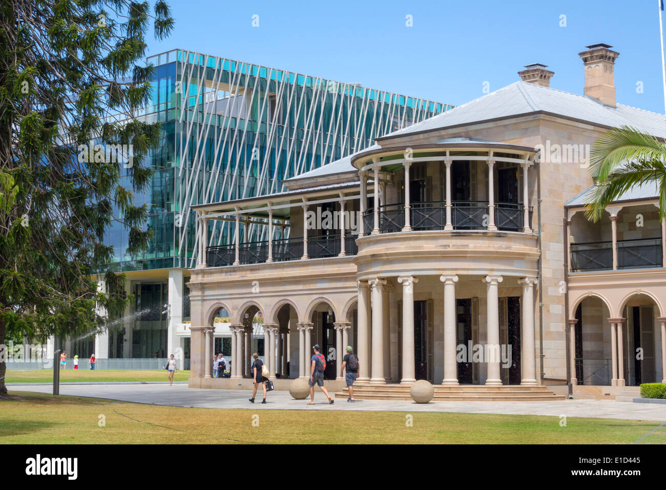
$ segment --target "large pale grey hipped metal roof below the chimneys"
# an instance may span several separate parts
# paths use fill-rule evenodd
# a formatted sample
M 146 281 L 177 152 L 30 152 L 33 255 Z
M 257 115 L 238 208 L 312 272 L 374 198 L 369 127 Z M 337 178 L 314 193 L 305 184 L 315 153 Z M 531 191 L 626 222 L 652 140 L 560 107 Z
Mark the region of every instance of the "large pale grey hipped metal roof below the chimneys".
M 627 125 L 657 137 L 666 137 L 666 116 L 663 114 L 622 104 L 611 107 L 586 95 L 517 81 L 430 119 L 379 137 L 377 141 L 535 112 L 551 113 L 606 127 Z

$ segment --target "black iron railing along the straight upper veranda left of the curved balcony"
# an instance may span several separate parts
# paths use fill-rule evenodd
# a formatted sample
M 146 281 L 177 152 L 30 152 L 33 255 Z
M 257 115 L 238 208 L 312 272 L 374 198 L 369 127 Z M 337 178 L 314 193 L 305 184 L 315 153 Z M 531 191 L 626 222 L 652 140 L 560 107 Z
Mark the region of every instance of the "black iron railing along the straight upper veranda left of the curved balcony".
M 273 261 L 298 260 L 303 257 L 303 237 L 273 240 Z M 308 237 L 308 258 L 336 257 L 340 254 L 342 243 L 340 235 Z M 356 235 L 345 235 L 344 251 L 346 255 L 356 255 Z M 264 263 L 268 259 L 268 241 L 240 243 L 238 261 L 241 264 Z M 208 267 L 232 265 L 236 260 L 234 245 L 218 245 L 206 248 Z

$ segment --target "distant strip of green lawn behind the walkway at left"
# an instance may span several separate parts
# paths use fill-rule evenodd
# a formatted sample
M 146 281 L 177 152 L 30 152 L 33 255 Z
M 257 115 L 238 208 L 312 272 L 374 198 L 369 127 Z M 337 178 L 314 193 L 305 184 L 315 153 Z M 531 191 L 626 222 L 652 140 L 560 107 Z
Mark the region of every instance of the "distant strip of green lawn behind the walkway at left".
M 96 382 L 96 381 L 168 381 L 165 369 L 152 371 L 121 371 L 114 369 L 61 369 L 61 383 Z M 174 381 L 187 381 L 190 371 L 176 371 Z M 51 369 L 7 369 L 5 383 L 52 383 L 53 370 Z

